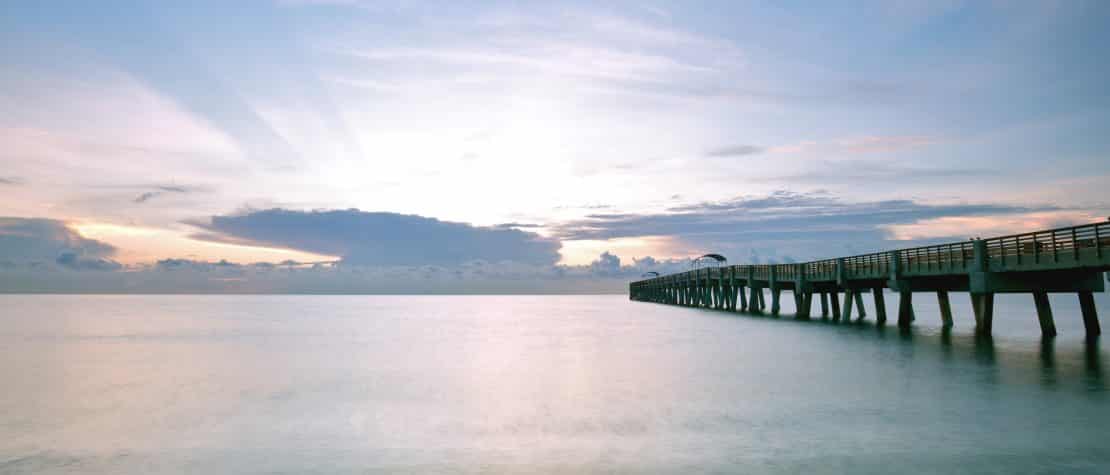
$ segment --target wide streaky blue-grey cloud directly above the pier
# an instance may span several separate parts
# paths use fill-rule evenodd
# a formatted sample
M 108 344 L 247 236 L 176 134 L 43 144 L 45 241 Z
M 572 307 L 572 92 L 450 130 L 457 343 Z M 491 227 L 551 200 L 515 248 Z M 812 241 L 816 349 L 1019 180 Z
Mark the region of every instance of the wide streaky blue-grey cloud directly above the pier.
M 562 240 L 668 236 L 676 245 L 694 252 L 785 262 L 906 246 L 905 242 L 891 242 L 896 238 L 891 230 L 927 220 L 1059 211 L 1057 206 L 930 204 L 912 200 L 848 202 L 827 192 L 777 191 L 673 206 L 660 213 L 592 214 L 548 229 Z

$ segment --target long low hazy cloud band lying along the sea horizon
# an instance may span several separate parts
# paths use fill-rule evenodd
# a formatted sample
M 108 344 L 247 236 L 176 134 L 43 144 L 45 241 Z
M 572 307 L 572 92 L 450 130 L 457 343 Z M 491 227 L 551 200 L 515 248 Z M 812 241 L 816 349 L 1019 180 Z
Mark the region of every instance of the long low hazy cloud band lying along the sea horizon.
M 70 257 L 63 256 L 61 261 Z M 688 260 L 622 260 L 603 253 L 589 265 L 471 261 L 456 265 L 253 263 L 165 259 L 120 266 L 74 261 L 52 267 L 0 261 L 2 292 L 73 293 L 310 293 L 310 294 L 565 294 L 624 293 L 644 272 L 689 269 Z M 67 272 L 70 269 L 120 272 Z

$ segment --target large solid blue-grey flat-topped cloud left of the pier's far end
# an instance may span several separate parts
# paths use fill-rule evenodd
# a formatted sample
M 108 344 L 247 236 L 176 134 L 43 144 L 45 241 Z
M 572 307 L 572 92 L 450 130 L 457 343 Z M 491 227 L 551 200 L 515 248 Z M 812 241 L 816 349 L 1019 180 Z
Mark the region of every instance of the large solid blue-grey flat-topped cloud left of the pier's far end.
M 345 264 L 451 265 L 468 261 L 554 264 L 559 243 L 516 229 L 482 228 L 410 214 L 272 209 L 190 222 L 194 238 L 340 255 Z

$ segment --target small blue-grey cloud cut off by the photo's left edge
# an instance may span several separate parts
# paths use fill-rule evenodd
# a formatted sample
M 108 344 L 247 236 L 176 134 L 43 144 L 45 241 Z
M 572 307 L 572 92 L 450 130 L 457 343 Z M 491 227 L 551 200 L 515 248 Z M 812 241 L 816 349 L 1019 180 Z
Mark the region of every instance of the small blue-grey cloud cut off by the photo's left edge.
M 114 253 L 112 245 L 83 238 L 61 221 L 0 218 L 0 262 L 115 270 L 119 264 L 108 259 Z

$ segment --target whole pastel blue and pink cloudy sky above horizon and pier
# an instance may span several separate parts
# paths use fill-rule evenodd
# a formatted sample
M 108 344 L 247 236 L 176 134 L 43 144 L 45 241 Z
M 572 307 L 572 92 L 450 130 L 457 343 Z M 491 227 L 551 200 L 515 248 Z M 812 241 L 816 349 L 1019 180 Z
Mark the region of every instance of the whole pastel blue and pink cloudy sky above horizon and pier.
M 0 292 L 602 292 L 1104 220 L 1101 1 L 0 3 Z

